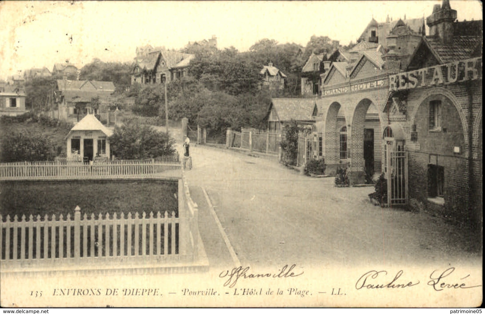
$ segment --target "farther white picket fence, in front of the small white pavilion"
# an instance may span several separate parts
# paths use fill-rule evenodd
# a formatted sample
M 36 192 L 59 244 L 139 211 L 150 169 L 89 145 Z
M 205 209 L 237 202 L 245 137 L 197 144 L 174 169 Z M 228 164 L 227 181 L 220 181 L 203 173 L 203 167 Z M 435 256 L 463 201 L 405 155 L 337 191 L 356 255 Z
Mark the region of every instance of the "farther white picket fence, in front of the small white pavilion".
M 83 164 L 56 161 L 0 164 L 0 180 L 96 179 L 96 178 L 181 178 L 179 161 L 156 159 L 116 160 L 108 163 Z

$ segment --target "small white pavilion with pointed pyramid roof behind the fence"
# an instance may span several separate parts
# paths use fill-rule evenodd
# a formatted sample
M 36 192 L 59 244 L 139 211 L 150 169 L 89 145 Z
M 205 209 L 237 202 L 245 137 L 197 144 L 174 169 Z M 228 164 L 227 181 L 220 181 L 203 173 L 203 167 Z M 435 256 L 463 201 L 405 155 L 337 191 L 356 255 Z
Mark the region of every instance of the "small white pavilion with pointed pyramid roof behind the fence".
M 65 137 L 67 158 L 90 162 L 94 157 L 110 157 L 109 137 L 113 131 L 103 126 L 94 114 L 81 119 Z

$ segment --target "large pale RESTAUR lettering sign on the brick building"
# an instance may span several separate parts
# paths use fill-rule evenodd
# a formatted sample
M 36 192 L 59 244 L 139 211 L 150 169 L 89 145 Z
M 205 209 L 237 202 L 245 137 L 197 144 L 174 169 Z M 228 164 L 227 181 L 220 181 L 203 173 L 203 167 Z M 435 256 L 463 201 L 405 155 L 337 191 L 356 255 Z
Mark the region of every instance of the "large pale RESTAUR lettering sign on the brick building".
M 482 57 L 389 76 L 389 91 L 436 86 L 482 78 Z

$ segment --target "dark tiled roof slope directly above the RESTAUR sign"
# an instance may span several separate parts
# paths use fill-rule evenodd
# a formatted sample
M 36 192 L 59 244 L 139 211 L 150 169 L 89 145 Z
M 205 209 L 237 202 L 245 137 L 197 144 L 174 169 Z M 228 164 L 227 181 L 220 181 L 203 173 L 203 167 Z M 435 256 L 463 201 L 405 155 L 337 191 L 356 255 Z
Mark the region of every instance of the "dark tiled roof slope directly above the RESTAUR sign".
M 426 36 L 424 43 L 430 48 L 440 63 L 470 59 L 475 56 L 478 46 L 482 46 L 481 36 L 453 36 L 450 44 L 441 44 L 439 38 Z

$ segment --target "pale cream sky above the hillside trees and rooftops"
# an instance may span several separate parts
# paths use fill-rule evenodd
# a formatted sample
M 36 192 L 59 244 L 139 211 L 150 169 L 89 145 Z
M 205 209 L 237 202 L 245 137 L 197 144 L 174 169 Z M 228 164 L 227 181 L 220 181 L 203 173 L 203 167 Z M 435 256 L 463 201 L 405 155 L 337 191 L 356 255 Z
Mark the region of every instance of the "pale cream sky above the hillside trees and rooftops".
M 129 62 L 137 46 L 180 49 L 217 36 L 247 51 L 263 38 L 306 46 L 312 35 L 356 41 L 372 17 L 431 15 L 441 0 L 0 1 L 0 78 L 69 60 Z M 482 19 L 478 0 L 451 0 L 458 20 Z

